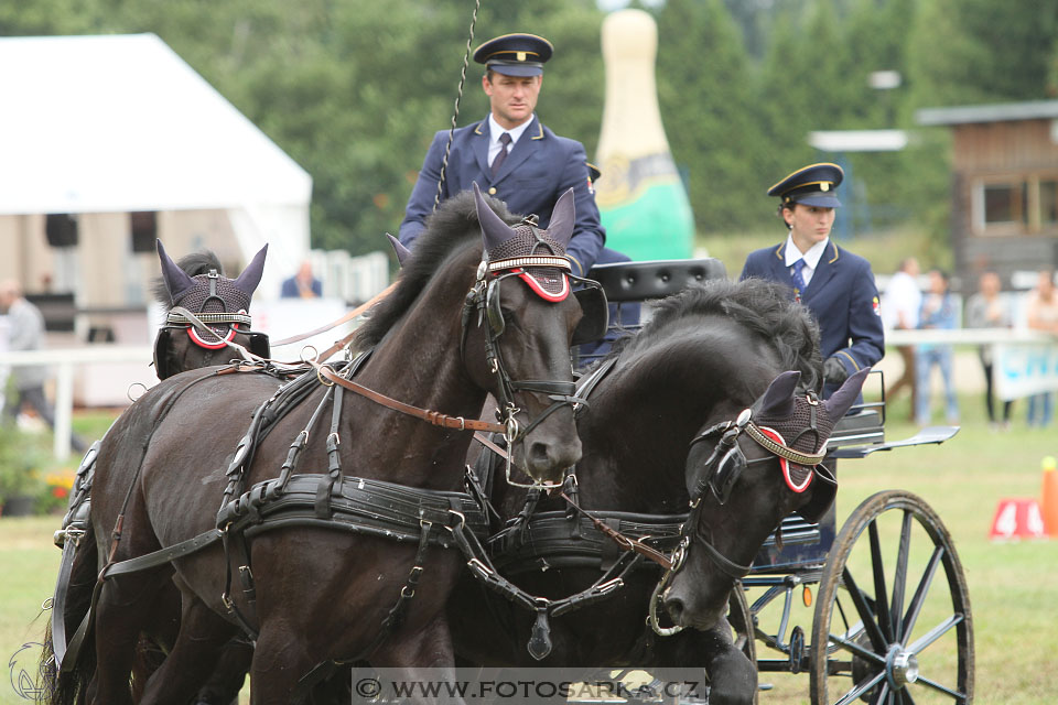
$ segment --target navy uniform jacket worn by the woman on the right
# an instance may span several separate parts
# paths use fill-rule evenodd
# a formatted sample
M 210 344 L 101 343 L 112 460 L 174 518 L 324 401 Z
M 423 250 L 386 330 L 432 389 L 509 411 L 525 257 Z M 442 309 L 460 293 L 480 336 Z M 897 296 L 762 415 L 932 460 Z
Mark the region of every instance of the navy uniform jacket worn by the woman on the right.
M 785 240 L 778 247 L 751 252 L 739 279 L 756 276 L 791 284 L 785 252 Z M 852 375 L 873 367 L 885 355 L 878 289 L 867 260 L 831 240 L 812 281 L 801 293 L 801 303 L 819 323 L 820 352 L 824 360 L 838 358 Z

